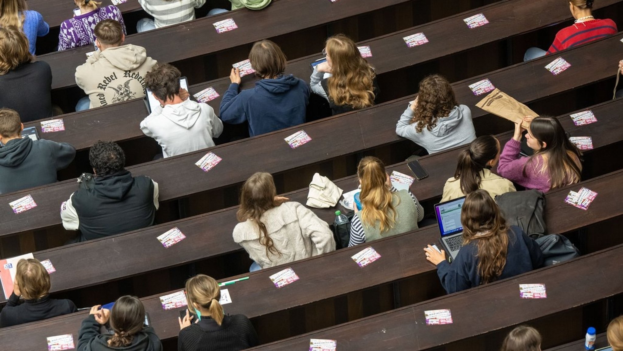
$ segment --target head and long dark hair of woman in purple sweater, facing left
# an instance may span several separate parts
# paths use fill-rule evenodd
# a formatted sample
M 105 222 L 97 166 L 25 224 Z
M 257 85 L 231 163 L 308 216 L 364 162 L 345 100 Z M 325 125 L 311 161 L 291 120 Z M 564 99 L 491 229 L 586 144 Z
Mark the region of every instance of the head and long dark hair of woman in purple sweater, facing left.
M 552 188 L 577 183 L 580 180 L 582 155 L 569 141 L 558 118 L 535 117 L 526 132 L 526 142 L 528 147 L 535 150 L 532 158 L 537 155 L 545 158 L 545 162 L 541 163 L 541 171 L 549 171 Z

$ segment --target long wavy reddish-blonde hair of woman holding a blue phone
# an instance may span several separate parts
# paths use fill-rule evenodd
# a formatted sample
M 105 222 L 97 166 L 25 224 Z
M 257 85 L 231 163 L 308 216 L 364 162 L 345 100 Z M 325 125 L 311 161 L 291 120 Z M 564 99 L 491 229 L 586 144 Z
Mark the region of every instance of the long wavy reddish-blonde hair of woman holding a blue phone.
M 344 34 L 326 39 L 326 54 L 331 57 L 328 95 L 336 105 L 354 109 L 374 105 L 374 70 L 354 42 Z

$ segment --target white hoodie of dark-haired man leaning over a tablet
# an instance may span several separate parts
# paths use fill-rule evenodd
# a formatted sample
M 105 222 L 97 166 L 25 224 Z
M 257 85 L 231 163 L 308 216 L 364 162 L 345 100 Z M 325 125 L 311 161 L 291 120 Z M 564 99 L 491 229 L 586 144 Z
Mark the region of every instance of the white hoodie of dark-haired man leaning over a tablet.
M 141 122 L 141 130 L 169 157 L 213 147 L 212 138 L 221 135 L 223 123 L 210 105 L 187 99 L 164 108 L 156 105 Z

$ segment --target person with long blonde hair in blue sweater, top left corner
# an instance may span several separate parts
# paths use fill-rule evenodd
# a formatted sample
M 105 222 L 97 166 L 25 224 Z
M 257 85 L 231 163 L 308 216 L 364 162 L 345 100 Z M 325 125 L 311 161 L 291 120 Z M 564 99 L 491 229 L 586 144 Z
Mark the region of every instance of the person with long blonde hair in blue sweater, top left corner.
M 24 0 L 0 1 L 0 27 L 8 26 L 15 26 L 26 34 L 31 55 L 35 54 L 37 37 L 45 36 L 50 31 L 50 26 L 44 21 L 43 16 L 37 11 L 29 10 Z

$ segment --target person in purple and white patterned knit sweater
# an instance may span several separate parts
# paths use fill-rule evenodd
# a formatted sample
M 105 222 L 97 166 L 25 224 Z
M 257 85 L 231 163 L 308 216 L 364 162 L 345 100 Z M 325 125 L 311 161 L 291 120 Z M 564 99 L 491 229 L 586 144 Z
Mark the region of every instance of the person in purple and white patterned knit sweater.
M 102 2 L 95 0 L 74 0 L 80 14 L 73 18 L 65 19 L 60 24 L 59 51 L 72 49 L 73 47 L 92 45 L 95 42 L 93 27 L 102 19 L 114 19 L 121 24 L 123 34 L 127 34 L 125 23 L 121 17 L 121 11 L 117 6 L 108 5 L 98 7 Z

